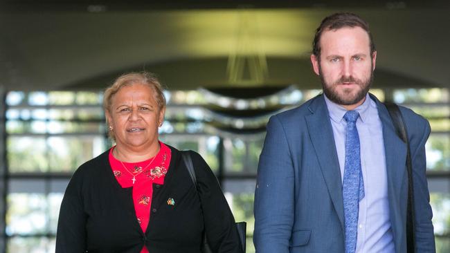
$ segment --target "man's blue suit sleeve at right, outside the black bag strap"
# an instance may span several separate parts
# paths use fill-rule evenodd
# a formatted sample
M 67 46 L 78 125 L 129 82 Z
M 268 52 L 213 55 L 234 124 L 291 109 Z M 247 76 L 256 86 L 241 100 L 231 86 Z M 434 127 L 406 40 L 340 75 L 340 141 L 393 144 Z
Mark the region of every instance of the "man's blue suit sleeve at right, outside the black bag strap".
M 415 208 L 415 243 L 416 252 L 435 252 L 433 234 L 433 212 L 430 206 L 430 194 L 426 182 L 426 156 L 425 143 L 430 134 L 429 122 L 423 120 L 423 124 L 409 124 L 417 133 L 417 138 L 411 136 L 411 161 L 413 164 L 414 208 Z M 415 127 L 423 126 L 416 132 Z

